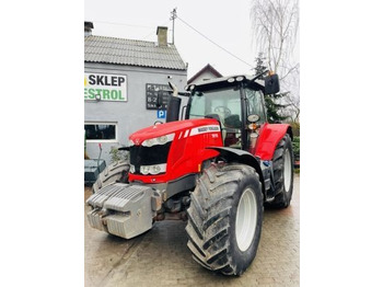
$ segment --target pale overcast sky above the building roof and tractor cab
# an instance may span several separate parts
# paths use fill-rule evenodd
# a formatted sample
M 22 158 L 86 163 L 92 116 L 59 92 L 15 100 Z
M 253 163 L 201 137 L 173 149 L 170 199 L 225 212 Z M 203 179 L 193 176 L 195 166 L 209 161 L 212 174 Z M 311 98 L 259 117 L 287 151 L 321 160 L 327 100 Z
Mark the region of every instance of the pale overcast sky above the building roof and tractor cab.
M 84 20 L 93 22 L 93 35 L 156 42 L 156 26 L 169 27 L 176 8 L 174 43 L 188 64 L 188 78 L 210 64 L 223 76 L 252 73 L 255 50 L 252 36 L 251 0 L 85 0 Z M 192 27 L 237 58 L 219 48 Z

